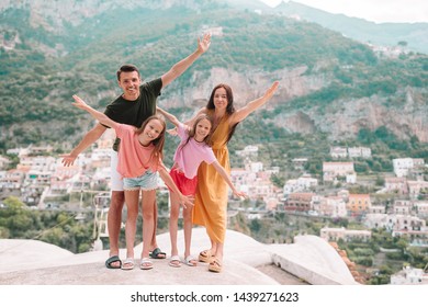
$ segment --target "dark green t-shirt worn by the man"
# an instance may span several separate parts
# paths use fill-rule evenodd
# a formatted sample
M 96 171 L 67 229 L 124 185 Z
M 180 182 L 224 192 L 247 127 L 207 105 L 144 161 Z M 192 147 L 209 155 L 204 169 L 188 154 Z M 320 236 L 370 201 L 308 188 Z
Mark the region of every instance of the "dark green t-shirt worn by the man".
M 120 95 L 105 107 L 104 114 L 116 123 L 140 127 L 144 121 L 156 113 L 156 100 L 161 88 L 160 78 L 146 82 L 139 87 L 139 96 L 136 100 L 125 100 Z M 116 138 L 113 145 L 116 151 L 119 143 L 120 139 Z

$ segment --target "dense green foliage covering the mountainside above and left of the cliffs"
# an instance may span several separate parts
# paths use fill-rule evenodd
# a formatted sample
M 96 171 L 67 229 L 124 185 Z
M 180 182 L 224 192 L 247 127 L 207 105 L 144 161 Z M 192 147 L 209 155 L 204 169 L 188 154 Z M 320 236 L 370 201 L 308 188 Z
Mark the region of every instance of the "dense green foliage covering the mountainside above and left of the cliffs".
M 195 48 L 203 29 L 221 26 L 223 35 L 213 38 L 210 56 L 198 60 L 194 70 L 207 73 L 212 67 L 224 67 L 245 73 L 305 66 L 305 73 L 322 72 L 329 80 L 323 89 L 279 106 L 277 114 L 307 107 L 323 112 L 333 101 L 373 94 L 391 95 L 396 104 L 398 88 L 427 83 L 424 55 L 379 59 L 367 45 L 313 23 L 223 5 L 211 9 L 198 14 L 177 7 L 117 9 L 77 26 L 66 24 L 63 33 L 31 27 L 23 9 L 3 11 L 2 20 L 14 29 L 5 32 L 5 41 L 20 42 L 14 49 L 0 49 L 0 123 L 5 128 L 0 150 L 57 144 L 64 135 L 75 145 L 92 123 L 70 105 L 74 93 L 102 110 L 119 94 L 114 72 L 121 64 L 136 64 L 146 79 L 159 77 Z M 173 89 L 198 87 L 191 76 L 184 73 Z M 46 130 L 44 123 L 56 128 Z

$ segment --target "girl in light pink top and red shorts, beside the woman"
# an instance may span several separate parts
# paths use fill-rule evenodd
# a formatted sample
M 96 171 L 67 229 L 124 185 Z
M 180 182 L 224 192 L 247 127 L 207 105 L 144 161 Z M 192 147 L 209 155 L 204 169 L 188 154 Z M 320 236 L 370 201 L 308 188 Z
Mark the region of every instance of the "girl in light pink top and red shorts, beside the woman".
M 167 117 L 176 127 L 178 136 L 181 139 L 173 156 L 173 166 L 170 175 L 176 185 L 183 195 L 194 197 L 198 185 L 198 168 L 202 162 L 213 166 L 230 186 L 236 196 L 245 197 L 243 192 L 236 191 L 225 169 L 218 163 L 211 148 L 211 132 L 213 123 L 211 117 L 205 114 L 199 116 L 192 127 L 179 122 L 176 116 L 157 107 L 165 117 Z M 180 213 L 180 200 L 177 194 L 170 193 L 171 211 L 169 217 L 169 234 L 171 238 L 171 259 L 169 265 L 179 268 L 181 261 L 178 255 L 177 232 L 178 218 Z M 192 236 L 192 207 L 183 208 L 183 230 L 184 230 L 184 263 L 190 266 L 196 265 L 196 260 L 190 254 L 190 245 Z

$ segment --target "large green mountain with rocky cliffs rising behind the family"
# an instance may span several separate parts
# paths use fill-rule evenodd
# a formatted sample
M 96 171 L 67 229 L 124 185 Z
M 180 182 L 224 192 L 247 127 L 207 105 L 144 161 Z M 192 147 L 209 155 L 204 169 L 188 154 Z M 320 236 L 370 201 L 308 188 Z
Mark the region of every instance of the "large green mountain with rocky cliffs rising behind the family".
M 159 99 L 183 118 L 218 82 L 233 87 L 239 106 L 279 80 L 279 93 L 241 125 L 251 126 L 237 144 L 316 133 L 334 141 L 380 128 L 428 141 L 426 55 L 378 54 L 315 23 L 262 11 L 259 1 L 248 9 L 240 2 L 1 4 L 0 150 L 31 143 L 68 150 L 93 125 L 71 106 L 72 94 L 103 110 L 120 94 L 122 64 L 137 65 L 146 79 L 160 77 L 204 32 L 213 33 L 210 50 Z

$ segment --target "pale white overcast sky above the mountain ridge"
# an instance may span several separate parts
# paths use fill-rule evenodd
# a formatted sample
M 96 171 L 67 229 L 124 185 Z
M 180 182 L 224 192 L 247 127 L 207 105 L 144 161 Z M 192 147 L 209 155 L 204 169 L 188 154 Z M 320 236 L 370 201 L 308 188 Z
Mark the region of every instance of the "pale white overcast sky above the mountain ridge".
M 260 0 L 275 7 L 282 0 Z M 376 23 L 428 22 L 428 0 L 293 0 L 330 13 Z M 288 0 L 284 0 L 288 2 Z

